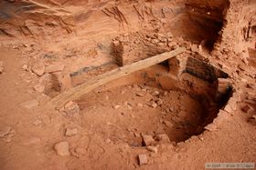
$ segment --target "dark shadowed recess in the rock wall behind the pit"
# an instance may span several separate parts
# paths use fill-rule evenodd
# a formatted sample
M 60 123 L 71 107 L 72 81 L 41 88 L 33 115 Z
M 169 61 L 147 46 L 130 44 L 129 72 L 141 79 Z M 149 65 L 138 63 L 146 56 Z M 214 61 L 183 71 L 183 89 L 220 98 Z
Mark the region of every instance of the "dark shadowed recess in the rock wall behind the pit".
M 221 40 L 222 27 L 229 9 L 229 1 L 209 3 L 187 0 L 187 40 L 203 45 L 209 51 Z

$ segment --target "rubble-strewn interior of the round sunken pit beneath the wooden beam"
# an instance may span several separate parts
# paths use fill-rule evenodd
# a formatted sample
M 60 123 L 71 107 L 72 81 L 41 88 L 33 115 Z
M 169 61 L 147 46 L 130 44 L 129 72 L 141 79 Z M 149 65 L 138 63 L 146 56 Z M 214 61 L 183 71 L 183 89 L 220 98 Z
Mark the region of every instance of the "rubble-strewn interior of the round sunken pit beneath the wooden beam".
M 176 67 L 164 62 L 83 95 L 77 101 L 80 125 L 131 146 L 144 145 L 143 135 L 152 135 L 157 143 L 157 136 L 165 134 L 176 144 L 201 134 L 227 104 L 232 87 L 219 82 L 228 77 L 224 72 L 197 59 L 187 62 L 176 77 Z M 73 75 L 72 84 L 79 85 L 90 72 Z

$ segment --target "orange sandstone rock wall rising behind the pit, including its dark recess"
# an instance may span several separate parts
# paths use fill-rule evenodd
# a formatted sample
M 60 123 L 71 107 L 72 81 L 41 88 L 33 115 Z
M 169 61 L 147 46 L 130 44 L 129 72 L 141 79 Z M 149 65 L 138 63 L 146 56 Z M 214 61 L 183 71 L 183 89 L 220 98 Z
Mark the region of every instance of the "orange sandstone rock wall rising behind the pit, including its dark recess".
M 228 48 L 239 54 L 254 45 L 253 6 L 252 0 L 5 0 L 0 2 L 0 34 L 2 40 L 29 40 L 50 48 L 53 41 L 80 44 L 81 37 L 107 41 L 136 31 L 171 32 L 209 50 Z

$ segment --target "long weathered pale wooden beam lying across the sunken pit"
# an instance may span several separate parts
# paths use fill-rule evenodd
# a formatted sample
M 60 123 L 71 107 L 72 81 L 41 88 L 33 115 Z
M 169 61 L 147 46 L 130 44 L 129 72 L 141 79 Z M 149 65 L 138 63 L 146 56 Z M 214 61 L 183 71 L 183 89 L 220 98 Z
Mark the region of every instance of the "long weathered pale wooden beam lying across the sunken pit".
M 171 57 L 185 52 L 185 50 L 186 48 L 184 47 L 176 48 L 176 50 L 173 50 L 171 52 L 166 52 L 161 55 L 155 55 L 150 58 L 146 58 L 144 60 L 133 63 L 131 65 L 124 65 L 123 67 L 116 68 L 110 72 L 95 76 L 91 78 L 91 80 L 88 80 L 81 85 L 75 86 L 55 96 L 49 101 L 49 103 L 59 109 L 61 106 L 65 105 L 69 101 L 76 100 L 81 95 L 87 94 L 101 85 L 111 82 L 112 80 L 121 78 L 124 75 L 129 75 L 135 71 L 159 64 Z

